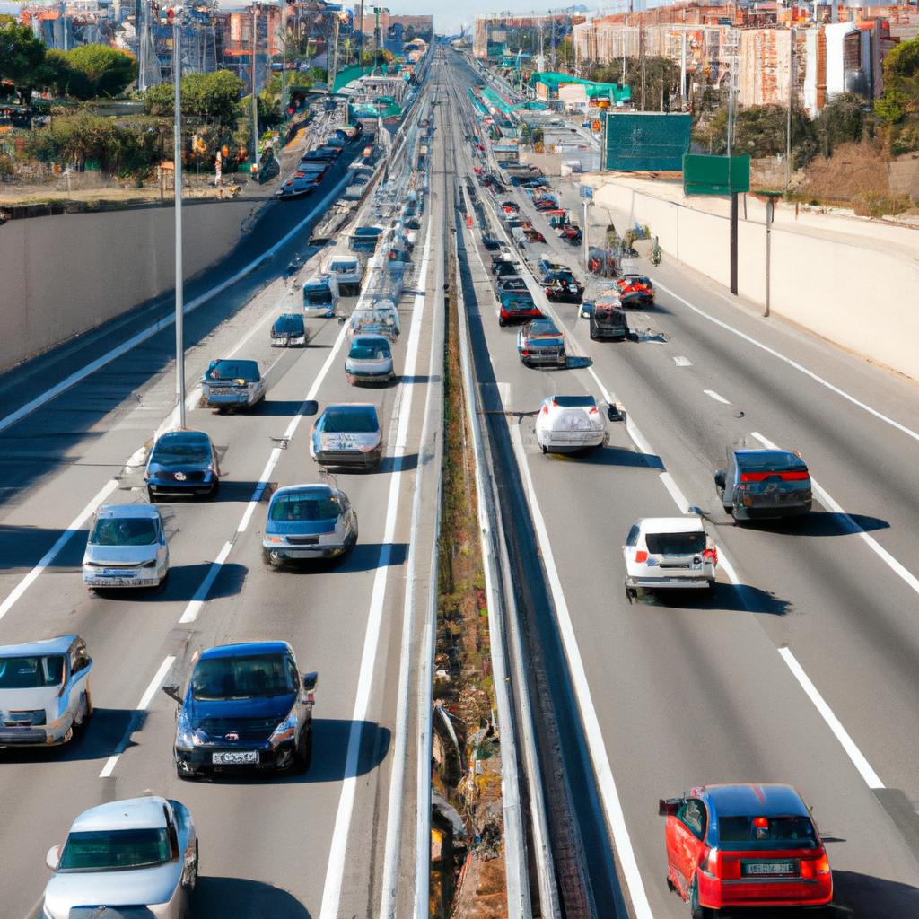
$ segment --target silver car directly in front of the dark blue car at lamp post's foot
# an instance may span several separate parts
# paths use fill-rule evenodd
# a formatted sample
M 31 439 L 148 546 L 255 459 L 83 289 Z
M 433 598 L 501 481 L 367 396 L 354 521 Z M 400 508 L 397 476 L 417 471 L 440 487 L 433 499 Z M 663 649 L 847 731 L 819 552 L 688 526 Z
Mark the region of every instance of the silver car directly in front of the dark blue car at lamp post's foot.
M 83 556 L 87 587 L 155 587 L 169 573 L 163 518 L 153 505 L 103 505 Z

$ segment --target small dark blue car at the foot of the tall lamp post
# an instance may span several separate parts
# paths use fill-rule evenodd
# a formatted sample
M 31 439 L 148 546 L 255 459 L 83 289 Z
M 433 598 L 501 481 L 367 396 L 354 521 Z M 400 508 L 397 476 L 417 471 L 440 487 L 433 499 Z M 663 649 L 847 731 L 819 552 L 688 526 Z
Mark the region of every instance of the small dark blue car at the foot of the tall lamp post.
M 205 494 L 220 487 L 217 453 L 203 431 L 169 431 L 160 437 L 147 459 L 143 481 L 155 502 L 160 494 Z

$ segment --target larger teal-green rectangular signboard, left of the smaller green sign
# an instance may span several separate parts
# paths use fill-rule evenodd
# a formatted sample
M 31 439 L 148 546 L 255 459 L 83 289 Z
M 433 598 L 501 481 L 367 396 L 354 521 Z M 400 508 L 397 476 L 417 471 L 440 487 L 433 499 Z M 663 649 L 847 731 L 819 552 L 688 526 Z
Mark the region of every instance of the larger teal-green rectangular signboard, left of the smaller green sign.
M 682 114 L 607 114 L 607 169 L 679 172 L 689 152 L 692 118 Z

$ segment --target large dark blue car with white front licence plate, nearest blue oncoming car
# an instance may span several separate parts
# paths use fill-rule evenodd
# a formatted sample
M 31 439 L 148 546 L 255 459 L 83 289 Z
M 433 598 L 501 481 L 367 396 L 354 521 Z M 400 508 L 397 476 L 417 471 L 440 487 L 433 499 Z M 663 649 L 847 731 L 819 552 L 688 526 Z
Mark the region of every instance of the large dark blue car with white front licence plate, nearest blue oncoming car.
M 287 641 L 225 644 L 201 654 L 178 703 L 176 774 L 241 769 L 305 772 L 312 757 L 313 690 Z

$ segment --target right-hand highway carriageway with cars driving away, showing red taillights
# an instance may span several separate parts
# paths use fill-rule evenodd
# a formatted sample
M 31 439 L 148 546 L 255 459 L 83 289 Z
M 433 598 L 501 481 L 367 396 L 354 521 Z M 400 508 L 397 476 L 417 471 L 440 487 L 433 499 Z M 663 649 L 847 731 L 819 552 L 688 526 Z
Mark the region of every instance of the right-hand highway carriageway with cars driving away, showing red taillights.
M 462 92 L 470 71 L 455 59 L 454 73 Z M 464 144 L 459 172 L 480 165 L 474 155 Z M 494 234 L 498 198 L 474 192 Z M 578 214 L 575 192 L 563 203 Z M 546 234 L 528 246 L 533 264 L 551 253 L 584 277 L 582 250 L 558 242 L 525 195 L 499 196 Z M 576 359 L 525 369 L 516 329 L 498 327 L 481 230 L 466 234 L 467 303 L 485 408 L 504 413 L 506 487 L 528 501 L 630 915 L 687 914 L 667 890 L 657 800 L 724 781 L 800 790 L 827 840 L 834 914 L 919 914 L 915 386 L 739 309 L 684 266 L 646 261 L 657 306 L 632 314 L 641 334 L 623 344 L 591 342 L 575 306 L 533 285 Z M 532 413 L 557 392 L 615 402 L 628 422 L 595 454 L 543 456 Z M 739 437 L 800 449 L 817 483 L 806 520 L 732 526 L 711 477 Z M 687 505 L 709 512 L 719 584 L 710 598 L 630 605 L 631 523 Z

